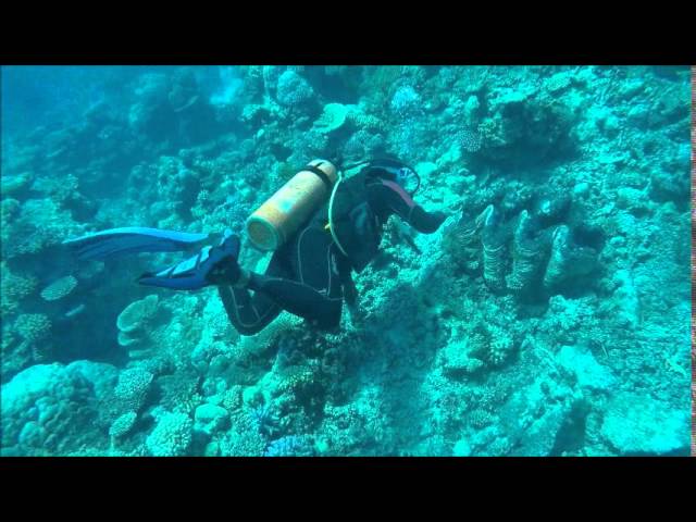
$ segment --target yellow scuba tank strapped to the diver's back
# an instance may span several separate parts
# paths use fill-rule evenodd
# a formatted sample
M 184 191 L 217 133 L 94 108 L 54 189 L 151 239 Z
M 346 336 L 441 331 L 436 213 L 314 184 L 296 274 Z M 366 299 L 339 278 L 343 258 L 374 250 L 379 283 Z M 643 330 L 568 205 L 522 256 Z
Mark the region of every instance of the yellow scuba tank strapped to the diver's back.
M 328 199 L 337 178 L 331 162 L 310 161 L 247 219 L 251 243 L 276 250 Z

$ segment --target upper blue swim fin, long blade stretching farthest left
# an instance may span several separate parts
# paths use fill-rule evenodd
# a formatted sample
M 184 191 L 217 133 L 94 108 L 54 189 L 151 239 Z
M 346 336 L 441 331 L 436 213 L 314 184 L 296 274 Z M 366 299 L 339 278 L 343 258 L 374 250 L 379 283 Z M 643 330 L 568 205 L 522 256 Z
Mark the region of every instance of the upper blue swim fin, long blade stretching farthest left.
M 103 260 L 127 253 L 186 250 L 207 238 L 208 234 L 127 226 L 67 239 L 63 245 L 73 249 L 80 260 Z

